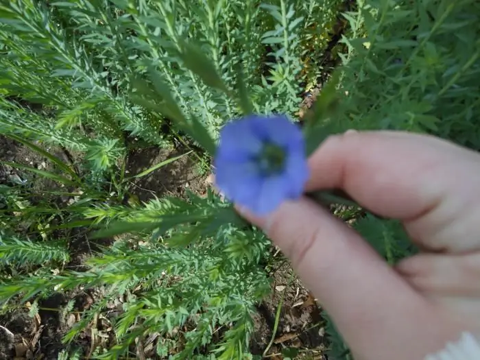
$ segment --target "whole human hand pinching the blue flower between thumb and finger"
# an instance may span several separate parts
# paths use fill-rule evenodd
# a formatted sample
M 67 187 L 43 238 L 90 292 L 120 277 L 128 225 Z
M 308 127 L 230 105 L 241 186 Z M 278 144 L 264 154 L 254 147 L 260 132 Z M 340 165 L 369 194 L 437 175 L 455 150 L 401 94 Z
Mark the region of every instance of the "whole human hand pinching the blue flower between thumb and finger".
M 422 252 L 392 268 L 341 220 L 307 197 L 265 230 L 352 349 L 355 359 L 423 359 L 480 334 L 480 154 L 405 132 L 331 136 L 309 158 L 307 191 L 341 189 L 399 219 Z

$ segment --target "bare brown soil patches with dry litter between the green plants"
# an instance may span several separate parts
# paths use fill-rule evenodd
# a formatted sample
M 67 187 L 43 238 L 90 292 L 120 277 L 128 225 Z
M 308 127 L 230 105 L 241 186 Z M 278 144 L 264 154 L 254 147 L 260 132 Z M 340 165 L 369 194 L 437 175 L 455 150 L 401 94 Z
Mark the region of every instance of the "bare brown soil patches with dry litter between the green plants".
M 68 160 L 62 149 L 51 147 L 49 151 Z M 163 160 L 186 152 L 186 149 L 158 149 L 158 147 L 136 149 L 130 152 L 125 169 L 130 175 L 135 175 Z M 49 170 L 47 159 L 3 136 L 0 136 L 0 160 L 37 168 L 40 166 L 46 171 Z M 198 163 L 199 160 L 192 154 L 183 156 L 173 163 L 152 171 L 147 176 L 136 179 L 131 183 L 130 191 L 143 202 L 154 196 L 185 197 L 187 190 L 204 195 L 209 184 L 207 174 L 200 173 Z M 54 182 L 45 181 L 31 173 L 0 164 L 0 184 L 12 184 L 19 179 L 27 180 L 28 186 L 32 187 L 43 189 L 58 187 Z M 82 259 L 86 259 L 91 254 L 91 246 L 95 244 L 84 241 L 81 235 L 73 239 L 70 247 L 77 256 L 73 256 L 72 263 L 68 266 L 81 269 Z M 276 268 L 271 271 L 272 294 L 257 307 L 258 312 L 254 315 L 255 332 L 250 341 L 250 350 L 254 355 L 263 355 L 273 337 L 272 346 L 265 354 L 268 359 L 284 359 L 283 352 L 292 349 L 298 352 L 295 359 L 326 359 L 322 353 L 325 348 L 325 339 L 320 309 L 300 280 L 296 276 L 291 280 L 291 267 L 279 251 L 276 251 L 276 258 L 278 259 L 275 262 Z M 66 349 L 66 345 L 62 344 L 62 337 L 80 321 L 80 313 L 92 307 L 103 296 L 104 291 L 101 288 L 89 292 L 79 289 L 69 293 L 55 293 L 42 300 L 38 304 L 38 315 L 34 317 L 29 316 L 29 303 L 19 305 L 12 311 L 1 312 L 0 360 L 58 359 L 59 352 Z M 282 296 L 280 321 L 274 334 L 276 311 Z M 73 301 L 73 310 L 66 312 L 65 307 L 70 300 Z M 108 306 L 110 315 L 115 315 L 117 302 L 115 300 Z M 104 328 L 107 327 L 104 326 Z M 98 328 L 100 329 L 101 325 Z M 105 344 L 113 340 L 112 331 L 104 331 L 103 334 L 104 338 L 101 341 Z M 80 347 L 84 354 L 89 354 L 93 342 L 98 339 L 99 337 L 93 337 L 92 333 L 86 332 L 75 339 L 71 346 Z M 154 356 L 151 358 L 159 359 Z

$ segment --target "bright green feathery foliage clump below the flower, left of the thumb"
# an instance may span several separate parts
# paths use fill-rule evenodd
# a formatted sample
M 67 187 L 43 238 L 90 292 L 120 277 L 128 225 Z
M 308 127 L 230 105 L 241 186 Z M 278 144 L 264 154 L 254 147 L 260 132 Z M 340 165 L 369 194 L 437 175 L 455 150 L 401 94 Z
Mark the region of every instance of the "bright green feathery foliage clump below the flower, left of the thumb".
M 214 216 L 202 216 L 198 211 Z M 269 281 L 259 265 L 269 243 L 260 232 L 232 225 L 228 220 L 231 212 L 212 194 L 208 199 L 192 195 L 191 202 L 152 200 L 144 208 L 124 212 L 119 219 L 133 227 L 139 221 L 155 221 L 160 228 L 154 237 L 142 243 L 136 237 L 116 241 L 103 254 L 88 259 L 88 272 L 65 271 L 61 276 L 6 281 L 0 287 L 0 298 L 21 293 L 32 296 L 46 291 L 47 286 L 65 291 L 104 285 L 107 299 L 126 295 L 129 300 L 116 320 L 118 344 L 102 359 L 123 354 L 141 335 L 171 334 L 175 328 L 190 324 L 195 326 L 185 333 L 186 347 L 176 359 L 190 359 L 197 348 L 208 346 L 221 327 L 228 330 L 221 344 L 211 350 L 217 359 L 237 358 L 248 346 L 254 304 L 269 291 Z M 197 219 L 182 216 L 191 214 Z M 176 228 L 168 223 L 173 215 L 180 219 Z M 169 225 L 162 228 L 164 218 Z M 86 319 L 89 316 L 93 313 Z M 67 341 L 79 327 L 67 334 Z

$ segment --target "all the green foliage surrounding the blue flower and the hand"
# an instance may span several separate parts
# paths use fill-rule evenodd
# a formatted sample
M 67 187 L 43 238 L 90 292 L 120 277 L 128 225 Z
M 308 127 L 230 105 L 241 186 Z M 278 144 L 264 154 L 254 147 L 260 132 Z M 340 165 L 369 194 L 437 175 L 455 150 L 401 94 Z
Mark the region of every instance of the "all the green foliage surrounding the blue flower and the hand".
M 348 128 L 427 132 L 480 149 L 479 17 L 475 0 L 0 0 L 0 134 L 49 163 L 1 161 L 23 175 L 0 184 L 2 311 L 105 287 L 66 344 L 122 297 L 101 359 L 131 356 L 152 333 L 163 339 L 158 357 L 252 359 L 269 241 L 211 191 L 132 200 L 134 179 L 181 156 L 128 174 L 129 152 L 181 143 L 208 163 L 229 119 L 296 119 L 332 54 L 341 64 L 304 117 L 309 152 Z M 416 251 L 396 221 L 337 213 L 355 215 L 391 264 Z M 75 242 L 93 238 L 112 245 L 72 270 Z M 326 324 L 330 359 L 350 358 L 328 315 Z M 179 328 L 184 346 L 172 355 Z

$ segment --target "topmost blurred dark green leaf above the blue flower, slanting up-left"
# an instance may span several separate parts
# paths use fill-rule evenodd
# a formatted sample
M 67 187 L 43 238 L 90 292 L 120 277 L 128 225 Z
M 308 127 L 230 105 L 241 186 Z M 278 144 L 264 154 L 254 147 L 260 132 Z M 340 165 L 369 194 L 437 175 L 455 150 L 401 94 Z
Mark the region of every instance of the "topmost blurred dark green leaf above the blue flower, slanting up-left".
M 205 84 L 218 88 L 224 93 L 228 93 L 224 80 L 215 69 L 213 62 L 205 56 L 205 51 L 202 51 L 199 47 L 180 41 L 182 51 L 178 54 L 182 59 L 185 67 L 191 70 L 193 73 L 200 76 Z

